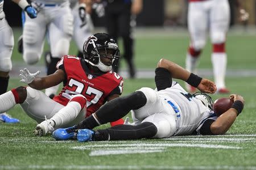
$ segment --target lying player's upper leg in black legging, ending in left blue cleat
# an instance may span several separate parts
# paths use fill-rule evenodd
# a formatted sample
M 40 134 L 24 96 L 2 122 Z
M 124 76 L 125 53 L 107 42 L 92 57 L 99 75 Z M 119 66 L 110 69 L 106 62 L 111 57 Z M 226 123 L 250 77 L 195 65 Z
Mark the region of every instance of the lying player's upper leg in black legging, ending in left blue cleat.
M 131 109 L 138 109 L 146 104 L 146 96 L 141 91 L 134 92 L 128 96 L 117 97 L 104 104 L 96 113 L 93 113 L 78 125 L 67 129 L 57 129 L 53 137 L 57 140 L 73 138 L 76 129 L 93 129 L 101 124 L 113 122 L 122 118 Z

